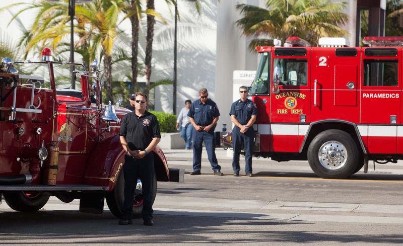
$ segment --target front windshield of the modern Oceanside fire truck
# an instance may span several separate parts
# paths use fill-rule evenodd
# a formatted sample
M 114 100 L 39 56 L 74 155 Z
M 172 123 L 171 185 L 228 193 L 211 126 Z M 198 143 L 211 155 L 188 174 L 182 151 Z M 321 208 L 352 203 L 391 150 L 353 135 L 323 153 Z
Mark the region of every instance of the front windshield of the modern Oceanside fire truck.
M 257 67 L 256 76 L 253 80 L 251 94 L 268 94 L 268 78 L 270 56 L 264 52 L 260 56 L 259 66 Z

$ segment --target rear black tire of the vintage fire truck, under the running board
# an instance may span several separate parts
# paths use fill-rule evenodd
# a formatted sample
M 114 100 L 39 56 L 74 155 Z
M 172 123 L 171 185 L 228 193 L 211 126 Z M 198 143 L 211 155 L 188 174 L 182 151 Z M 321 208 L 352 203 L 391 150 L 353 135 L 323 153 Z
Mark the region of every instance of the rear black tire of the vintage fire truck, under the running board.
M 39 194 L 38 192 L 25 191 L 4 191 L 4 198 L 7 204 L 19 212 L 33 212 L 43 208 L 49 196 Z

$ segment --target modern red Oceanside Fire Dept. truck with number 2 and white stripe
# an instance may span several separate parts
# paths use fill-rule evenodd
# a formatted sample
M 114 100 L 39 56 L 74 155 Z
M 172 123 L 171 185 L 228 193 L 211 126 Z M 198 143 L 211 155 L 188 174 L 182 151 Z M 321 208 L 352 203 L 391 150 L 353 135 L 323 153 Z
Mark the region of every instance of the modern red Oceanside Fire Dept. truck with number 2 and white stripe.
M 255 156 L 308 160 L 322 178 L 343 179 L 368 161 L 403 159 L 403 37 L 344 38 L 319 46 L 290 37 L 261 54 L 250 94 L 258 109 Z M 231 146 L 231 132 L 221 132 Z

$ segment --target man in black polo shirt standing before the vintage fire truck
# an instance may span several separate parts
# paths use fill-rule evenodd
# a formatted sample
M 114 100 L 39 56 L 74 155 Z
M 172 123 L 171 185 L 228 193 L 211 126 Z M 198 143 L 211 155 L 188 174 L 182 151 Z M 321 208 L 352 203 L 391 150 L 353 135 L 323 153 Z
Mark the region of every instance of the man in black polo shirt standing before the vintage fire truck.
M 145 225 L 153 225 L 153 180 L 154 155 L 153 149 L 161 140 L 160 126 L 157 117 L 146 111 L 148 97 L 138 92 L 135 94 L 135 111 L 127 113 L 120 126 L 120 143 L 126 150 L 123 174 L 125 180 L 123 219 L 120 225 L 132 224 L 133 201 L 140 174 L 143 185 L 142 217 Z

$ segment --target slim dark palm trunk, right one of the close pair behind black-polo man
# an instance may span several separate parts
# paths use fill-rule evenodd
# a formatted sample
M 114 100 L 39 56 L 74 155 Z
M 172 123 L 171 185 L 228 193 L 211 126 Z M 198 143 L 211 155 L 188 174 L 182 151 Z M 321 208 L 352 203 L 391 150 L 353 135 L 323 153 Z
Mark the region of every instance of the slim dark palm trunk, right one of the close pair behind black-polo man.
M 154 0 L 147 1 L 147 9 L 154 10 Z M 153 55 L 153 39 L 154 39 L 154 16 L 147 16 L 147 42 L 146 42 L 146 94 L 150 93 L 150 77 L 151 77 L 151 58 Z M 148 106 L 147 106 L 148 108 Z

